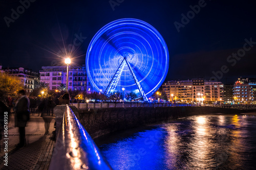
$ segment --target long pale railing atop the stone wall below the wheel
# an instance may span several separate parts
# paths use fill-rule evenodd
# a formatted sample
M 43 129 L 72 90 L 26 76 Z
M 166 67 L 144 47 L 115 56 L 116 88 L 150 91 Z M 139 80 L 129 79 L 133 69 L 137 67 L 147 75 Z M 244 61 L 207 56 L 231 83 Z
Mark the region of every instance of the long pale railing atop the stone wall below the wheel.
M 139 107 L 184 107 L 199 106 L 194 104 L 168 104 L 168 103 L 71 103 L 78 109 L 99 109 L 99 108 L 139 108 Z

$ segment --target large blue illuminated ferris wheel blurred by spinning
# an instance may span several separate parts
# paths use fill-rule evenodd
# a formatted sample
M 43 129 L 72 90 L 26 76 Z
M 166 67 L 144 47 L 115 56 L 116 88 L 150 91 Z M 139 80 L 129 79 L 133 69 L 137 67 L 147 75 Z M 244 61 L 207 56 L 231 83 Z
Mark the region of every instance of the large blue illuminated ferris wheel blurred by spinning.
M 168 66 L 163 37 L 148 23 L 133 18 L 101 28 L 86 55 L 87 74 L 95 90 L 110 95 L 124 88 L 144 101 L 161 86 Z

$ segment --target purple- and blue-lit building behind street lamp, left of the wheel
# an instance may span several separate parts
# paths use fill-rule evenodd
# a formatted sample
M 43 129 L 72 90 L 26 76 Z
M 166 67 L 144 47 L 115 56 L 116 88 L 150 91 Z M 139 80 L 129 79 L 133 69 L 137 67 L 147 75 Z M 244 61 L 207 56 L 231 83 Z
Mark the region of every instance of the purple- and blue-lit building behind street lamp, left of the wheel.
M 61 84 L 66 85 L 67 66 L 42 66 L 39 73 L 40 82 L 45 82 L 50 90 L 58 89 Z M 68 88 L 71 90 L 92 91 L 85 65 L 69 67 L 68 82 Z

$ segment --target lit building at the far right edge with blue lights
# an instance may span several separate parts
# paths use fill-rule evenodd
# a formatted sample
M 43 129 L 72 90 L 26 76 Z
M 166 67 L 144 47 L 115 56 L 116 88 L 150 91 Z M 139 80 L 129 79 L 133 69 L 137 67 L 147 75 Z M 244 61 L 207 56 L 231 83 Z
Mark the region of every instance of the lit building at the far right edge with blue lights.
M 239 78 L 233 85 L 233 99 L 239 104 L 255 104 L 256 79 Z

